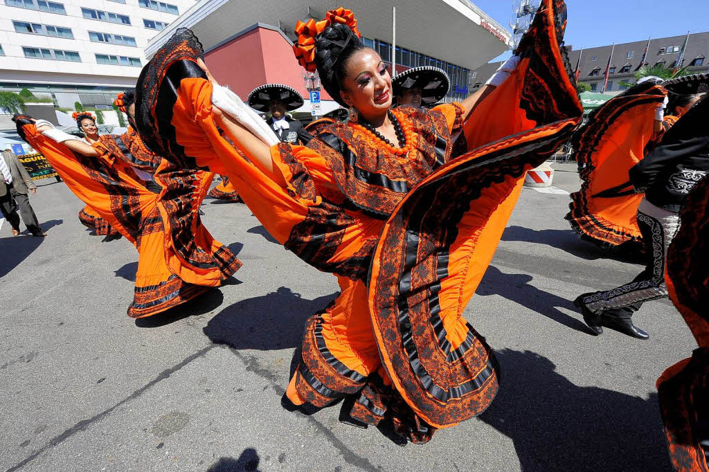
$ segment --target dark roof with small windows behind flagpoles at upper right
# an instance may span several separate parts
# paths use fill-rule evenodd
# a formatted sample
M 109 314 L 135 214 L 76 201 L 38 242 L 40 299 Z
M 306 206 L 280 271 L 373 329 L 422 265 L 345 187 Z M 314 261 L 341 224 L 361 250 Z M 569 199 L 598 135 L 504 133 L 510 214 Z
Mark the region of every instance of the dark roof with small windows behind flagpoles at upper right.
M 679 57 L 685 38 L 686 35 L 671 36 L 669 38 L 652 38 L 647 50 L 647 58 L 645 59 L 645 62 L 649 65 L 654 65 L 657 62 L 664 60 L 668 67 L 671 66 Z M 635 74 L 637 69 L 640 69 L 640 66 L 642 65 L 640 64 L 640 61 L 642 60 L 645 45 L 647 45 L 647 40 L 615 45 L 610 66 L 615 66 L 616 69 L 615 74 L 610 74 L 610 77 L 632 77 L 632 75 Z M 661 48 L 664 48 L 664 51 L 666 51 L 668 47 L 672 47 L 673 52 L 669 54 L 659 54 Z M 676 52 L 674 52 L 675 47 L 677 49 Z M 583 55 L 581 56 L 581 74 L 579 74 L 579 81 L 591 80 L 591 71 L 593 71 L 593 69 L 600 69 L 599 74 L 603 76 L 605 66 L 608 64 L 608 55 L 610 55 L 610 50 L 611 45 L 588 47 L 584 49 Z M 632 57 L 627 57 L 629 52 L 632 52 Z M 571 69 L 576 69 L 576 64 L 579 62 L 580 54 L 581 50 L 571 50 L 569 52 Z M 593 60 L 593 57 L 596 57 L 595 61 Z M 707 72 L 709 70 L 709 32 L 689 35 L 687 50 L 684 53 L 683 65 L 688 66 L 697 57 L 706 57 L 707 60 L 704 61 L 703 66 L 690 67 L 689 70 L 693 73 Z M 620 69 L 626 64 L 630 64 L 630 72 L 627 74 L 621 74 Z M 593 77 L 593 79 L 596 79 L 596 77 Z

